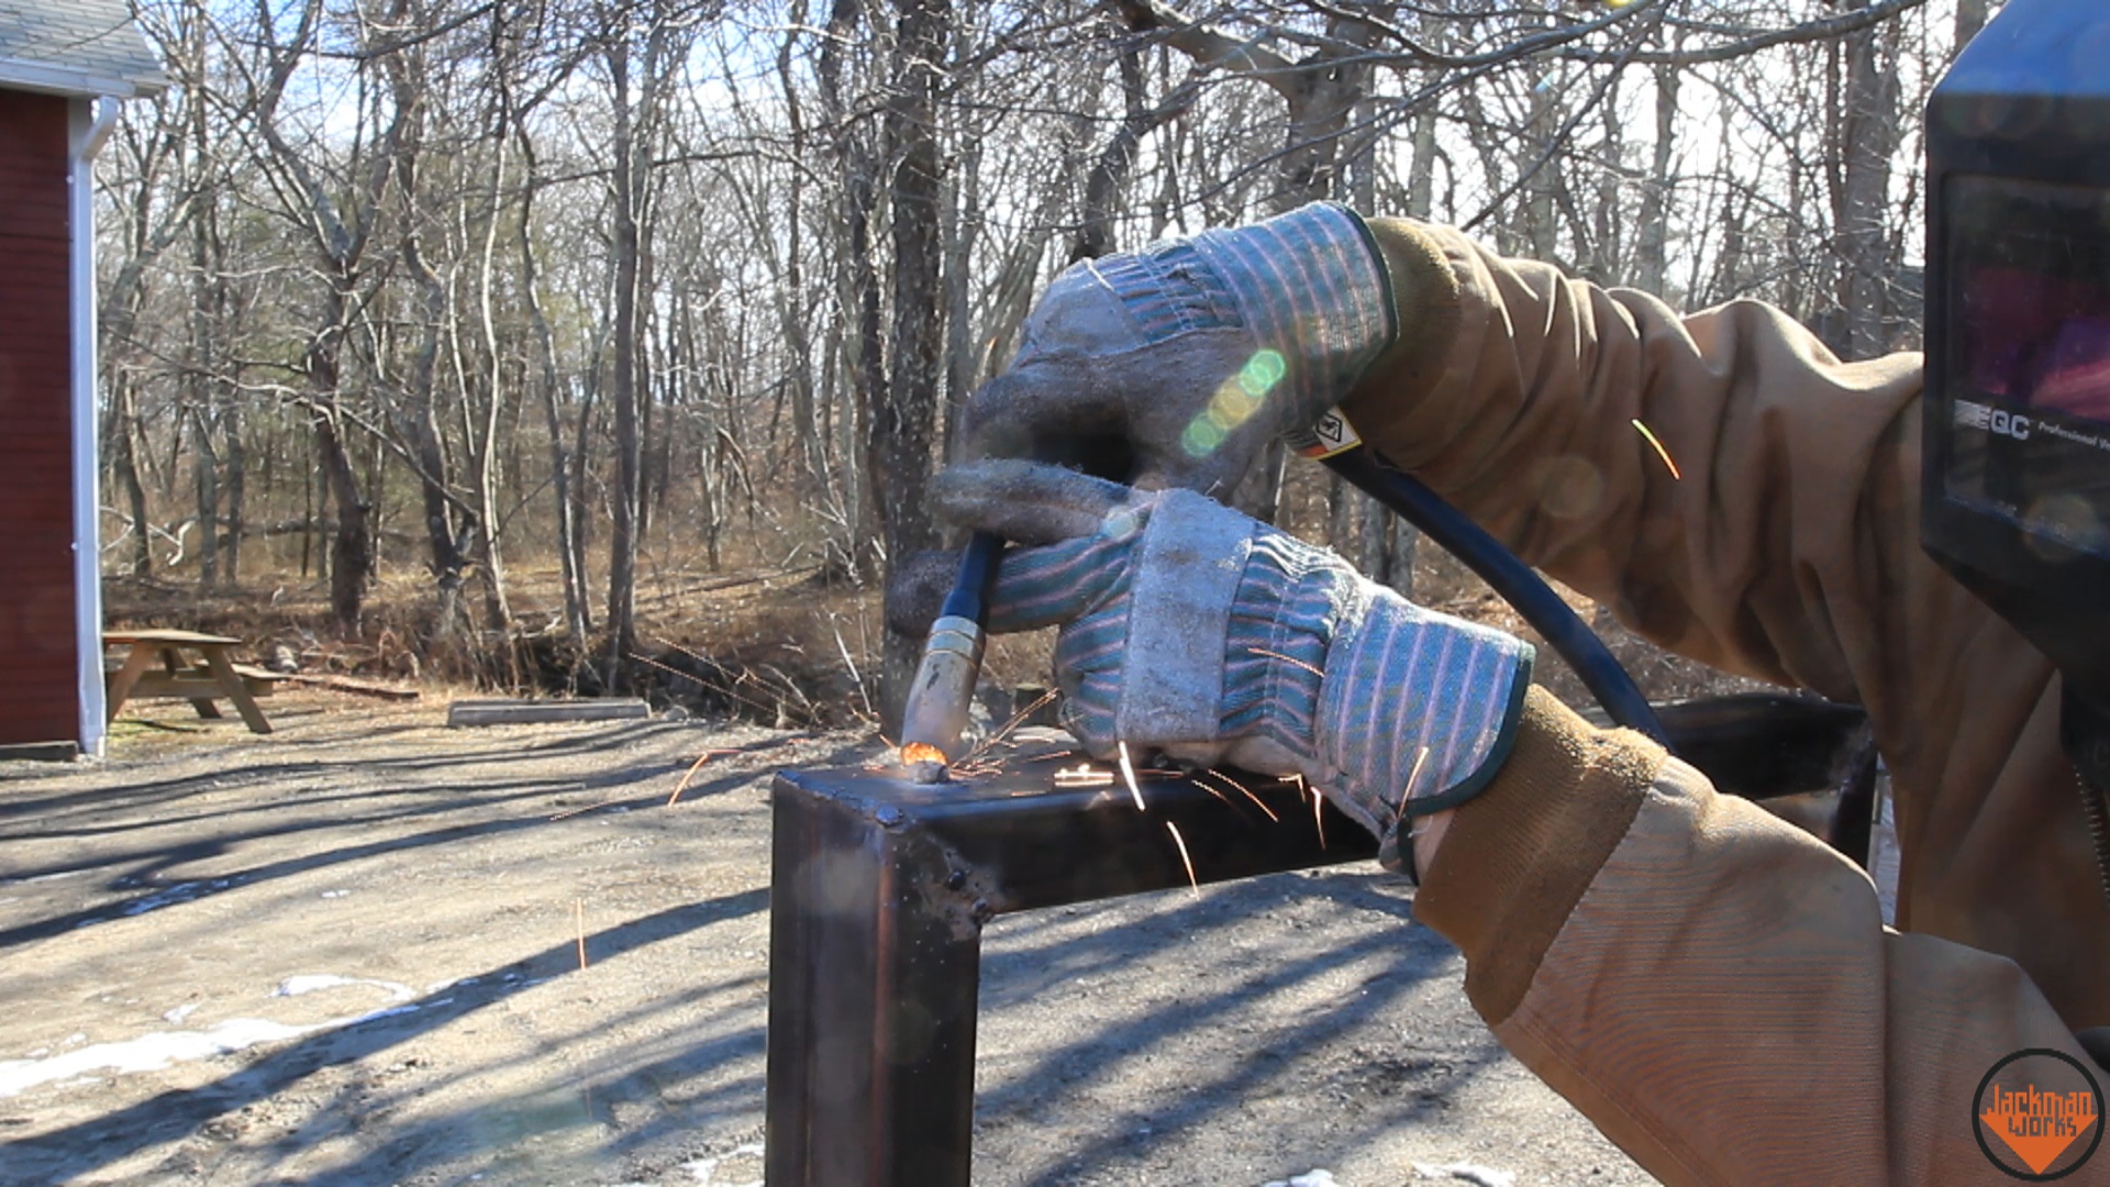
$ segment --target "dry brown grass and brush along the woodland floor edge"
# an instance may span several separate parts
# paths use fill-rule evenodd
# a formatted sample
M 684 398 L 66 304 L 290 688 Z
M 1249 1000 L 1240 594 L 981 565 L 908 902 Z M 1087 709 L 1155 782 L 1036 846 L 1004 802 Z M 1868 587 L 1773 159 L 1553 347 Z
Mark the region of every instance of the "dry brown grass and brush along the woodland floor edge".
M 831 581 L 817 564 L 751 564 L 726 572 L 646 566 L 637 591 L 637 640 L 625 678 L 660 701 L 734 712 L 768 724 L 876 727 L 880 594 Z M 1414 594 L 1422 604 L 1519 636 L 1532 632 L 1488 585 L 1437 549 L 1420 549 Z M 1593 619 L 1587 598 L 1561 591 Z M 481 619 L 481 589 L 466 596 Z M 304 672 L 333 672 L 433 689 L 601 693 L 603 657 L 580 648 L 561 625 L 555 564 L 515 564 L 509 574 L 513 632 L 464 629 L 435 642 L 435 598 L 422 570 L 386 568 L 367 596 L 365 629 L 342 638 L 329 617 L 329 587 L 295 574 L 266 574 L 238 587 L 192 581 L 103 583 L 112 627 L 190 627 L 249 642 L 249 659 L 291 653 Z M 1747 680 L 1677 659 L 1616 623 L 1595 623 L 1614 655 L 1656 699 L 1741 691 Z M 1053 632 L 992 640 L 983 678 L 996 689 L 1049 682 Z M 283 648 L 283 651 L 281 651 Z M 1587 701 L 1557 659 L 1538 682 L 1570 703 Z

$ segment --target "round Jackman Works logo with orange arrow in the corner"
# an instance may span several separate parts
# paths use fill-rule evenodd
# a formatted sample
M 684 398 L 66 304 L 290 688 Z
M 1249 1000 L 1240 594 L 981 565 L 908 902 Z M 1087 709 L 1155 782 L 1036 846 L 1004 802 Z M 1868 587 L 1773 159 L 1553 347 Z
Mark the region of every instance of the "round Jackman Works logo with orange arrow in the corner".
M 1992 1064 L 1971 1105 L 1979 1149 L 2013 1179 L 2066 1179 L 2104 1141 L 2104 1090 L 2087 1064 L 2051 1048 Z

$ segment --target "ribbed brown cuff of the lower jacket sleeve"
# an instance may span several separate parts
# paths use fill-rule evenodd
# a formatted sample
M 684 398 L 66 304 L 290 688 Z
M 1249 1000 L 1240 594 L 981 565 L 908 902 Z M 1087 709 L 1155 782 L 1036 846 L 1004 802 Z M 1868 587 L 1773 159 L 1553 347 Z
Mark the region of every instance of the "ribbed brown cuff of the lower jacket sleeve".
M 1637 733 L 1599 731 L 1545 689 L 1526 695 L 1509 760 L 1450 815 L 1414 900 L 1464 953 L 1466 997 L 1490 1024 L 1523 999 L 1663 762 Z

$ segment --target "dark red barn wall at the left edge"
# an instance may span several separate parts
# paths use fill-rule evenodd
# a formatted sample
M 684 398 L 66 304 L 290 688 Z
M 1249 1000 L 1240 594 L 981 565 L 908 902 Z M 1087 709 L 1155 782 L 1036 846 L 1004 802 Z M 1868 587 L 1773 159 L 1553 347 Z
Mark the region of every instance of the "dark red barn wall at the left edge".
M 80 737 L 68 101 L 0 91 L 0 743 Z

